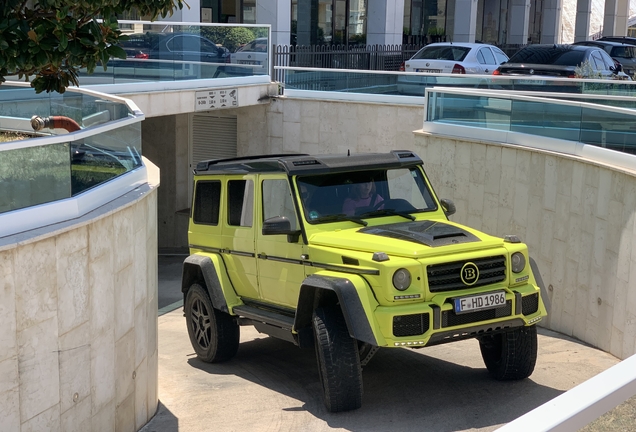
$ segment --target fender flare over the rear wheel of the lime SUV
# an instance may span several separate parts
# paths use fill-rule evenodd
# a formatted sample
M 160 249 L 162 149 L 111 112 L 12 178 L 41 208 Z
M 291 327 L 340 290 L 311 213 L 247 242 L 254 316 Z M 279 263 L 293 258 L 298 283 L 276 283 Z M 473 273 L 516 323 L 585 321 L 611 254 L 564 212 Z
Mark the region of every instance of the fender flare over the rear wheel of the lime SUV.
M 223 295 L 217 269 L 210 257 L 205 255 L 190 255 L 183 262 L 183 271 L 181 274 L 181 292 L 183 293 L 184 303 L 188 289 L 193 283 L 198 281 L 205 282 L 204 288 L 207 289 L 214 308 L 229 313 L 230 311 L 225 301 L 225 295 Z

